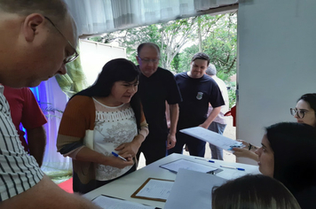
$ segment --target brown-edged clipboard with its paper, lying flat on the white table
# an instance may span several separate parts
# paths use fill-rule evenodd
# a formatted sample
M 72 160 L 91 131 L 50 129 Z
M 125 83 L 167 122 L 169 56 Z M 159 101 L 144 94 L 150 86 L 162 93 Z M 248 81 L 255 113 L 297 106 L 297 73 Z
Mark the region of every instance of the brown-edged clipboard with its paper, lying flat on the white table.
M 149 178 L 131 197 L 165 202 L 169 197 L 173 181 Z

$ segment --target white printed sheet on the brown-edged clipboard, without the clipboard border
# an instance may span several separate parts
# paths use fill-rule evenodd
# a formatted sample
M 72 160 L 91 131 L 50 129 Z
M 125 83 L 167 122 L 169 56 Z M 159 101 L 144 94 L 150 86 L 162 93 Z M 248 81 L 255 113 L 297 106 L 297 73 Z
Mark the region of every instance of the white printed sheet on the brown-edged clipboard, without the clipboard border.
M 174 182 L 151 179 L 138 191 L 138 197 L 167 199 Z

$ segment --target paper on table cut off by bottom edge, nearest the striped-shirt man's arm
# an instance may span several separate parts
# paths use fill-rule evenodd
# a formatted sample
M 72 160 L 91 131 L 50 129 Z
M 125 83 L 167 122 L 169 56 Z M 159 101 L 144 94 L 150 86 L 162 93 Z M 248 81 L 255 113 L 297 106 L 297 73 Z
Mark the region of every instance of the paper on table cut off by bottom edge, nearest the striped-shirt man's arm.
M 153 206 L 142 205 L 139 203 L 133 203 L 127 200 L 112 198 L 100 195 L 99 197 L 92 200 L 92 203 L 100 206 L 101 208 L 107 209 L 154 209 Z

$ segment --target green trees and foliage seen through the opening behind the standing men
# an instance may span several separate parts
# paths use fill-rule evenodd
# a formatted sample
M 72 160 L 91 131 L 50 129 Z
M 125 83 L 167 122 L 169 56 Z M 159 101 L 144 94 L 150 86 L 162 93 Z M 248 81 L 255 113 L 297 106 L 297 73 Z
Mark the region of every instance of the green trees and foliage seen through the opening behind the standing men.
M 161 49 L 160 66 L 178 74 L 190 69 L 191 58 L 196 52 L 209 55 L 217 67 L 217 77 L 229 89 L 230 107 L 235 104 L 237 60 L 237 14 L 209 14 L 178 19 L 144 27 L 134 27 L 114 33 L 92 37 L 92 41 L 118 43 L 126 48 L 127 57 L 137 64 L 137 47 L 140 43 L 156 43 Z

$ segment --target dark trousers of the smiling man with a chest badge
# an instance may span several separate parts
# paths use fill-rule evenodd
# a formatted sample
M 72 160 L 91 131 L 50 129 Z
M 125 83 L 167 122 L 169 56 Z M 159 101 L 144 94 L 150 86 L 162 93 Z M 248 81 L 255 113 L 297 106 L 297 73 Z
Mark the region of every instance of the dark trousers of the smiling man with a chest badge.
M 183 146 L 186 144 L 189 149 L 189 153 L 192 156 L 204 158 L 205 154 L 205 142 L 197 139 L 191 135 L 185 135 L 177 132 L 177 143 L 176 146 L 168 151 L 168 154 L 178 153 L 182 154 Z

